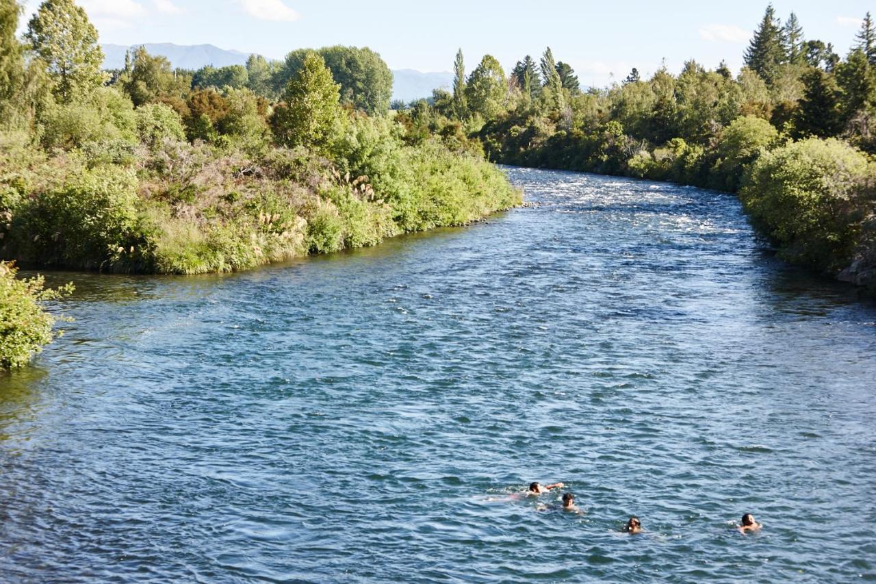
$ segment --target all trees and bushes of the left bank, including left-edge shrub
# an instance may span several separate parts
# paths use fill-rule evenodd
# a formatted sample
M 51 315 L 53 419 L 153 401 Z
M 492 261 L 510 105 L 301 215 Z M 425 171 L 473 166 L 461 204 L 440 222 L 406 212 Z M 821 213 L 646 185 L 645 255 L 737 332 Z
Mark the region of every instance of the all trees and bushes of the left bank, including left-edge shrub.
M 46 0 L 16 37 L 0 0 L 0 369 L 53 338 L 67 291 L 22 267 L 205 274 L 375 246 L 522 203 L 462 135 L 412 140 L 369 49 L 173 70 L 141 47 L 102 71 L 95 27 Z

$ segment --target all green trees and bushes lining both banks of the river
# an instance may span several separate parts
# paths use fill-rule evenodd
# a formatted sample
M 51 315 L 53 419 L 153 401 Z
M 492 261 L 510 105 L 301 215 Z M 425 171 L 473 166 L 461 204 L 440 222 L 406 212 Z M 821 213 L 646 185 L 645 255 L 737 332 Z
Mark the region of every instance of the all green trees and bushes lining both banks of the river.
M 844 58 L 770 5 L 738 75 L 691 60 L 605 89 L 549 48 L 510 75 L 460 51 L 452 92 L 405 104 L 368 48 L 188 71 L 138 47 L 104 71 L 74 0 L 18 39 L 22 12 L 0 0 L 0 260 L 205 274 L 374 246 L 522 204 L 498 162 L 737 193 L 781 259 L 876 293 L 869 13 Z M 0 309 L 13 288 L 46 299 L 7 286 Z

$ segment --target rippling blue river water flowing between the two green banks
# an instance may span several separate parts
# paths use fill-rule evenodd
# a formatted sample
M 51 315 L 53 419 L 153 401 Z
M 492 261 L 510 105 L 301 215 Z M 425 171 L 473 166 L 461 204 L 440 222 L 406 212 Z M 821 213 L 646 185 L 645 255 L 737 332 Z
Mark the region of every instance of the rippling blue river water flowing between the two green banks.
M 876 580 L 876 306 L 731 196 L 508 172 L 537 206 L 465 229 L 53 274 L 75 322 L 0 377 L 0 580 Z

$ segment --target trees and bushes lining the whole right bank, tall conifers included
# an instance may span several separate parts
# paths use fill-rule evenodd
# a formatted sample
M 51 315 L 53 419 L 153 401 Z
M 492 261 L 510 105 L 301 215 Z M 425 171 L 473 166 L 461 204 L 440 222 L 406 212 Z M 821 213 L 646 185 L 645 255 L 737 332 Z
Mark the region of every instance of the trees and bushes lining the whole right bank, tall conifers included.
M 452 91 L 396 103 L 409 133 L 477 139 L 489 160 L 738 194 L 782 260 L 876 295 L 876 25 L 841 58 L 767 7 L 745 67 L 694 60 L 583 89 L 550 48 L 505 75 L 486 55 Z

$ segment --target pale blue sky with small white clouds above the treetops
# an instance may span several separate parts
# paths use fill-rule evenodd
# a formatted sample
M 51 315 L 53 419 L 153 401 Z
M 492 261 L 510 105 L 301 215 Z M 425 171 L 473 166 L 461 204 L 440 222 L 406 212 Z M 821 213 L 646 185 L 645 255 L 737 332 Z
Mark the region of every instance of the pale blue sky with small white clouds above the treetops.
M 677 72 L 695 57 L 737 70 L 745 45 L 763 16 L 764 0 L 78 0 L 102 42 L 132 45 L 210 43 L 281 58 L 292 49 L 344 44 L 370 46 L 391 68 L 447 71 L 458 47 L 473 68 L 484 53 L 512 68 L 526 53 L 551 46 L 586 85 L 623 79 L 630 68 L 651 73 L 665 60 Z M 869 5 L 868 5 L 869 4 Z M 28 13 L 39 0 L 28 0 Z M 786 2 L 784 19 L 800 18 L 809 39 L 844 55 L 872 0 Z M 613 77 L 611 75 L 614 75 Z

